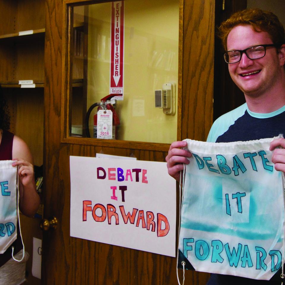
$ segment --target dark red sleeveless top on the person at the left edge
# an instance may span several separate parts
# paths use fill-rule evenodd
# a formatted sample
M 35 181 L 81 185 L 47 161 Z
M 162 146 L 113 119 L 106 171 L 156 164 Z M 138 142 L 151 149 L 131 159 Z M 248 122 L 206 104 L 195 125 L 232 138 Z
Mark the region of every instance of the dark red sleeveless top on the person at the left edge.
M 3 131 L 0 143 L 0 160 L 12 160 L 13 138 L 14 134 Z M 12 257 L 12 246 L 14 246 L 14 256 L 23 248 L 20 237 L 19 221 L 17 222 L 17 239 L 3 254 L 0 254 L 0 266 L 4 265 Z

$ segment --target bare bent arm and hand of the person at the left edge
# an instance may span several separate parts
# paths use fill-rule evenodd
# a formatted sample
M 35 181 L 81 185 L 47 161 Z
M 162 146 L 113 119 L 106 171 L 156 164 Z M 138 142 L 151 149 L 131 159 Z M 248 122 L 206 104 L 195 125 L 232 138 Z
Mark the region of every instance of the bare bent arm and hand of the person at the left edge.
M 34 162 L 29 147 L 17 136 L 14 136 L 13 139 L 12 159 L 15 160 L 12 165 L 18 165 L 19 208 L 24 215 L 31 217 L 37 212 L 40 202 L 36 191 Z

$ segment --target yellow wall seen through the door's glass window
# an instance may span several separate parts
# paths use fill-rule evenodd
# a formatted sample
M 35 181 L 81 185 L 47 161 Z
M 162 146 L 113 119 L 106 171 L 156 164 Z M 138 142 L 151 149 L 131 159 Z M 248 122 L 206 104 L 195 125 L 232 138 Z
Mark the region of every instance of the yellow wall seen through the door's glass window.
M 118 138 L 172 143 L 177 137 L 179 1 L 125 0 L 124 5 L 124 100 L 116 109 Z M 110 93 L 110 21 L 111 3 L 90 5 L 87 107 Z M 175 115 L 154 107 L 154 90 L 167 82 L 176 83 Z

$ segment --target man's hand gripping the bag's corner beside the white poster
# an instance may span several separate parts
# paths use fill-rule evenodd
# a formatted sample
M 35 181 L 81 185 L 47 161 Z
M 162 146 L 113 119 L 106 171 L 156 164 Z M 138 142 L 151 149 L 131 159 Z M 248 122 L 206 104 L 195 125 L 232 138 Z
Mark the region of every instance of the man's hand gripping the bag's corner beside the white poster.
M 187 157 L 192 155 L 189 151 L 181 149 L 185 146 L 187 146 L 186 141 L 172 143 L 170 145 L 168 155 L 165 158 L 167 162 L 168 174 L 177 181 L 180 179 L 180 171 L 183 170 L 183 163 L 189 164 Z

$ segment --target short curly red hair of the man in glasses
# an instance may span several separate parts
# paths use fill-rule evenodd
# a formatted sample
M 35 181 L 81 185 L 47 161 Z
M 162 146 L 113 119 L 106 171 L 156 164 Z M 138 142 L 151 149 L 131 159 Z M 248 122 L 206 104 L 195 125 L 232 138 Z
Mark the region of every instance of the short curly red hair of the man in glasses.
M 219 27 L 218 36 L 221 38 L 225 50 L 227 50 L 229 32 L 238 25 L 251 25 L 256 32 L 267 32 L 273 43 L 280 45 L 285 43 L 284 27 L 275 14 L 257 8 L 245 9 L 234 13 Z

